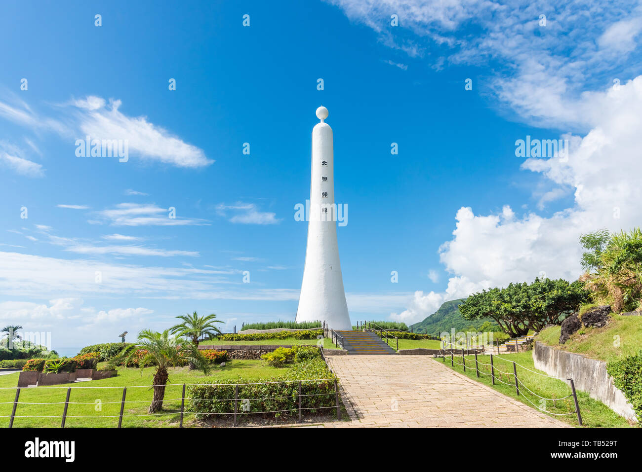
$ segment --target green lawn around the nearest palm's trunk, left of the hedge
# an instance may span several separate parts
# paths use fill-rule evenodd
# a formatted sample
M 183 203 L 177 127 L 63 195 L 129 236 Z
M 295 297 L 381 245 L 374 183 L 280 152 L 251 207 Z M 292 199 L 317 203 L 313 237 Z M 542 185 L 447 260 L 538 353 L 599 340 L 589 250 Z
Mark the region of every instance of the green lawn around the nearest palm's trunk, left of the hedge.
M 159 416 L 147 415 L 147 409 L 152 401 L 152 389 L 148 387 L 131 388 L 135 385 L 152 384 L 154 367 L 147 367 L 142 371 L 135 368 L 119 368 L 118 376 L 104 380 L 90 382 L 76 382 L 75 384 L 60 385 L 62 388 L 35 387 L 21 389 L 20 402 L 60 402 L 56 405 L 18 405 L 16 416 L 58 416 L 42 418 L 16 417 L 14 427 L 60 427 L 62 411 L 64 409 L 67 387 L 71 389 L 70 404 L 67 410 L 67 428 L 98 428 L 116 427 L 117 416 L 120 412 L 120 401 L 123 396 L 123 386 L 127 386 L 125 415 L 141 415 L 139 417 L 123 418 L 123 427 L 175 427 L 178 426 L 180 412 L 180 397 L 182 384 L 198 382 L 217 382 L 223 379 L 238 378 L 266 378 L 281 375 L 288 367 L 270 367 L 261 365 L 260 360 L 232 360 L 225 367 L 215 366 L 209 376 L 198 371 L 189 371 L 187 367 L 174 367 L 170 369 L 170 383 L 165 390 L 163 414 Z M 18 382 L 18 373 L 0 376 L 0 387 L 15 387 Z M 58 386 L 55 386 L 58 387 Z M 96 387 L 118 387 L 115 389 Z M 12 411 L 15 389 L 0 389 L 0 416 L 8 416 Z M 6 403 L 8 402 L 8 403 Z M 82 404 L 73 404 L 78 402 Z M 114 403 L 110 403 L 114 402 Z M 187 404 L 187 401 L 186 401 Z M 70 416 L 101 416 L 100 418 L 82 418 Z M 3 426 L 9 424 L 9 418 L 0 419 Z M 193 423 L 193 415 L 185 415 L 185 425 Z

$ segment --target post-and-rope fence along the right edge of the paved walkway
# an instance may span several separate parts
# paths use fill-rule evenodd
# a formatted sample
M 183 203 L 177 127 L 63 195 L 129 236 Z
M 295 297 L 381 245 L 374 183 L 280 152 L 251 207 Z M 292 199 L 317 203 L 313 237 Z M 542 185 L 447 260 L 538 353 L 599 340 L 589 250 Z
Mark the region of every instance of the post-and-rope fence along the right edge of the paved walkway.
M 449 348 L 445 347 L 446 344 L 449 344 Z M 542 374 L 540 372 L 535 372 L 534 370 L 529 369 L 526 366 L 522 366 L 521 364 L 518 364 L 514 360 L 509 360 L 509 359 L 506 359 L 506 358 L 503 358 L 503 357 L 499 357 L 498 355 L 496 355 L 496 354 L 494 355 L 492 353 L 490 353 L 490 362 L 480 362 L 480 360 L 478 359 L 478 353 L 482 353 L 483 355 L 488 355 L 488 354 L 485 353 L 484 351 L 480 351 L 480 350 L 476 350 L 476 349 L 468 349 L 467 350 L 469 352 L 470 351 L 474 351 L 474 359 L 467 359 L 466 355 L 471 356 L 471 354 L 465 354 L 465 351 L 461 350 L 461 361 L 462 362 L 457 362 L 455 360 L 455 358 L 458 359 L 459 358 L 458 357 L 459 354 L 455 355 L 455 349 L 453 348 L 453 346 L 455 346 L 453 343 L 444 341 L 444 348 L 442 350 L 443 353 L 442 353 L 442 356 L 441 356 L 443 362 L 446 362 L 446 353 L 450 353 L 451 367 L 455 367 L 455 365 L 462 366 L 464 368 L 464 372 L 466 371 L 466 369 L 474 370 L 474 371 L 476 371 L 477 378 L 480 378 L 480 375 L 490 375 L 490 377 L 492 378 L 492 385 L 496 385 L 496 382 L 500 382 L 501 384 L 507 385 L 508 387 L 514 387 L 517 396 L 523 397 L 526 401 L 528 401 L 528 403 L 533 405 L 536 409 L 538 409 L 540 411 L 543 411 L 543 412 L 546 412 L 548 414 L 551 414 L 551 415 L 554 415 L 554 416 L 571 416 L 571 415 L 575 414 L 575 415 L 577 415 L 577 421 L 578 421 L 579 425 L 582 426 L 582 415 L 580 414 L 580 405 L 578 404 L 578 401 L 577 401 L 577 392 L 575 391 L 575 382 L 573 381 L 572 378 L 560 378 L 560 377 L 555 377 L 555 376 L 551 376 L 551 375 Z M 455 356 L 457 356 L 457 357 L 455 357 Z M 503 360 L 504 362 L 508 362 L 508 364 L 512 364 L 512 366 L 513 366 L 512 373 L 505 372 L 505 371 L 502 371 L 501 369 L 498 369 L 498 367 L 495 365 L 495 360 L 496 359 Z M 470 364 L 467 365 L 466 361 L 468 361 Z M 474 366 L 472 364 L 473 362 L 474 362 Z M 485 371 L 485 369 L 483 369 L 483 367 L 482 367 L 482 369 L 480 369 L 480 365 L 489 366 L 490 367 L 490 369 L 489 369 L 490 372 Z M 524 384 L 524 382 L 522 380 L 519 379 L 519 377 L 517 376 L 517 366 L 521 367 L 522 369 L 525 369 L 526 371 L 529 371 L 530 373 L 534 373 L 534 374 L 540 375 L 542 377 L 550 378 L 550 379 L 553 379 L 553 380 L 562 380 L 562 381 L 568 380 L 570 382 L 570 385 L 571 385 L 571 394 L 569 394 L 567 396 L 564 396 L 564 397 L 560 397 L 560 398 L 545 398 L 545 397 L 535 393 L 534 391 L 529 389 Z M 508 377 L 512 376 L 514 378 L 514 384 L 508 384 L 508 382 L 505 382 L 504 380 L 502 380 L 500 378 L 500 376 L 496 375 L 496 372 L 499 372 L 499 373 L 501 373 L 503 375 L 506 375 Z M 520 386 L 522 387 L 521 389 L 520 389 Z M 532 394 L 533 396 L 535 396 L 535 397 L 537 397 L 537 398 L 539 398 L 541 400 L 553 401 L 553 405 L 555 405 L 555 406 L 557 406 L 557 401 L 562 401 L 562 400 L 566 400 L 567 398 L 573 397 L 573 403 L 575 403 L 575 410 L 572 411 L 572 412 L 569 412 L 569 413 L 551 412 L 549 410 L 546 410 L 546 409 L 544 409 L 542 407 L 539 407 L 539 406 L 535 405 L 535 403 L 533 403 L 533 401 L 531 401 L 530 398 L 528 398 L 528 396 L 525 395 L 524 390 L 530 392 L 530 394 Z

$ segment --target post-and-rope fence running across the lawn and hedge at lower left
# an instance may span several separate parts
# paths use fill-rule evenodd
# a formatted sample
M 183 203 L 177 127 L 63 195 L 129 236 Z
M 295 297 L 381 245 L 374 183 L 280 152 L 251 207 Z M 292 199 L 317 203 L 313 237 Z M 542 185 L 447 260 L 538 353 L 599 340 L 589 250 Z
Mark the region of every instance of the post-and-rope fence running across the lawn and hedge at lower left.
M 333 391 L 330 392 L 325 392 L 325 393 L 303 393 L 302 392 L 302 386 L 306 383 L 309 382 L 333 382 Z M 295 392 L 294 394 L 290 395 L 282 395 L 282 396 L 270 396 L 270 397 L 259 397 L 259 398 L 243 398 L 239 396 L 239 386 L 243 385 L 270 385 L 270 384 L 298 384 L 298 391 Z M 200 385 L 200 386 L 213 386 L 213 387 L 234 387 L 234 398 L 193 398 L 190 396 L 186 396 L 186 387 L 189 385 Z M 147 414 L 125 414 L 125 405 L 126 403 L 153 403 L 153 399 L 151 400 L 127 400 L 126 395 L 127 395 L 127 390 L 128 389 L 135 389 L 135 388 L 144 388 L 144 387 L 162 387 L 162 388 L 167 388 L 167 387 L 180 387 L 182 386 L 182 396 L 178 398 L 163 398 L 162 402 L 163 403 L 168 403 L 171 401 L 180 401 L 180 410 L 178 411 L 166 411 L 166 412 L 157 412 L 157 413 L 147 413 Z M 13 401 L 2 401 L 0 402 L 0 405 L 13 405 L 12 407 L 12 412 L 10 415 L 0 415 L 0 418 L 9 418 L 9 428 L 13 428 L 13 423 L 15 418 L 60 418 L 60 428 L 65 427 L 65 421 L 67 418 L 92 418 L 92 419 L 108 419 L 108 418 L 118 418 L 118 428 L 122 428 L 123 426 L 123 419 L 128 418 L 128 417 L 155 417 L 155 416 L 167 416 L 167 415 L 180 415 L 180 420 L 179 420 L 179 428 L 183 427 L 183 420 L 184 416 L 186 414 L 191 414 L 194 415 L 195 417 L 198 416 L 221 416 L 221 415 L 227 415 L 227 416 L 233 416 L 234 418 L 234 426 L 236 426 L 237 423 L 237 417 L 239 415 L 257 415 L 257 414 L 277 414 L 277 413 L 298 413 L 298 421 L 299 423 L 302 422 L 302 414 L 304 411 L 308 410 L 336 410 L 336 416 L 337 419 L 341 419 L 341 409 L 340 409 L 340 400 L 339 400 L 339 392 L 338 392 L 338 385 L 336 378 L 322 378 L 322 379 L 307 379 L 307 380 L 280 380 L 280 381 L 273 381 L 273 382 L 251 382 L 251 383 L 244 383 L 244 384 L 178 384 L 178 385 L 130 385 L 127 387 L 1 387 L 0 390 L 15 390 L 15 399 Z M 57 389 L 57 390 L 66 390 L 66 397 L 65 401 L 20 401 L 21 397 L 21 392 L 22 391 L 29 391 L 29 392 L 34 392 L 34 391 L 42 391 L 42 390 L 50 390 L 50 389 Z M 117 389 L 117 390 L 122 390 L 123 395 L 120 401 L 100 401 L 100 405 L 113 405 L 113 404 L 119 404 L 120 405 L 120 412 L 119 414 L 113 414 L 113 415 L 78 415 L 78 414 L 69 414 L 68 413 L 68 408 L 69 405 L 96 405 L 96 401 L 91 402 L 91 401 L 71 401 L 71 392 L 72 390 L 75 391 L 83 391 L 83 390 L 100 390 L 100 389 Z M 304 407 L 303 406 L 303 400 L 304 398 L 318 398 L 318 397 L 329 397 L 333 398 L 333 404 L 331 406 L 313 406 L 313 407 Z M 261 411 L 250 411 L 250 410 L 245 410 L 243 407 L 239 409 L 239 401 L 242 403 L 246 403 L 249 401 L 258 401 L 259 403 L 265 405 L 266 401 L 269 400 L 284 400 L 284 399 L 290 399 L 290 400 L 295 400 L 296 405 L 293 408 L 287 408 L 287 409 L 267 409 L 267 410 L 261 410 Z M 187 411 L 185 408 L 185 401 L 216 401 L 216 402 L 233 402 L 234 404 L 234 410 L 232 412 L 197 412 L 197 411 Z M 248 404 L 248 403 L 247 403 Z M 314 403 L 313 403 L 314 404 Z M 61 414 L 53 414 L 53 415 L 24 415 L 24 414 L 17 414 L 18 406 L 19 405 L 64 405 L 64 408 L 61 412 Z

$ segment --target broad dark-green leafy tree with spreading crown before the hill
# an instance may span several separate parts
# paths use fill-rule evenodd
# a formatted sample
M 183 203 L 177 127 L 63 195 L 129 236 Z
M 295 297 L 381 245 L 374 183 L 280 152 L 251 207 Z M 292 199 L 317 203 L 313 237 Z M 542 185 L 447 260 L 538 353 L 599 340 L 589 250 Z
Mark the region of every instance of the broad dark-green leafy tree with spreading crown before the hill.
M 581 282 L 535 278 L 533 283 L 510 283 L 503 289 L 483 290 L 469 296 L 459 310 L 465 319 L 490 317 L 510 337 L 523 336 L 560 323 L 586 302 Z

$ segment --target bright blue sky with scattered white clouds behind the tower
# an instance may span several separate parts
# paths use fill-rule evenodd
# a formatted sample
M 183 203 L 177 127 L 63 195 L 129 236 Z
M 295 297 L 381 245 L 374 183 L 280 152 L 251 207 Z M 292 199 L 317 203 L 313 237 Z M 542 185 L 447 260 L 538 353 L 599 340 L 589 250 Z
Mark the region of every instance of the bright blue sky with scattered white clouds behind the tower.
M 580 233 L 639 224 L 640 18 L 634 2 L 5 2 L 0 322 L 55 347 L 193 310 L 293 319 L 320 105 L 353 321 L 575 278 Z M 77 157 L 88 132 L 127 139 L 128 161 Z M 526 135 L 569 139 L 569 159 L 516 157 Z

